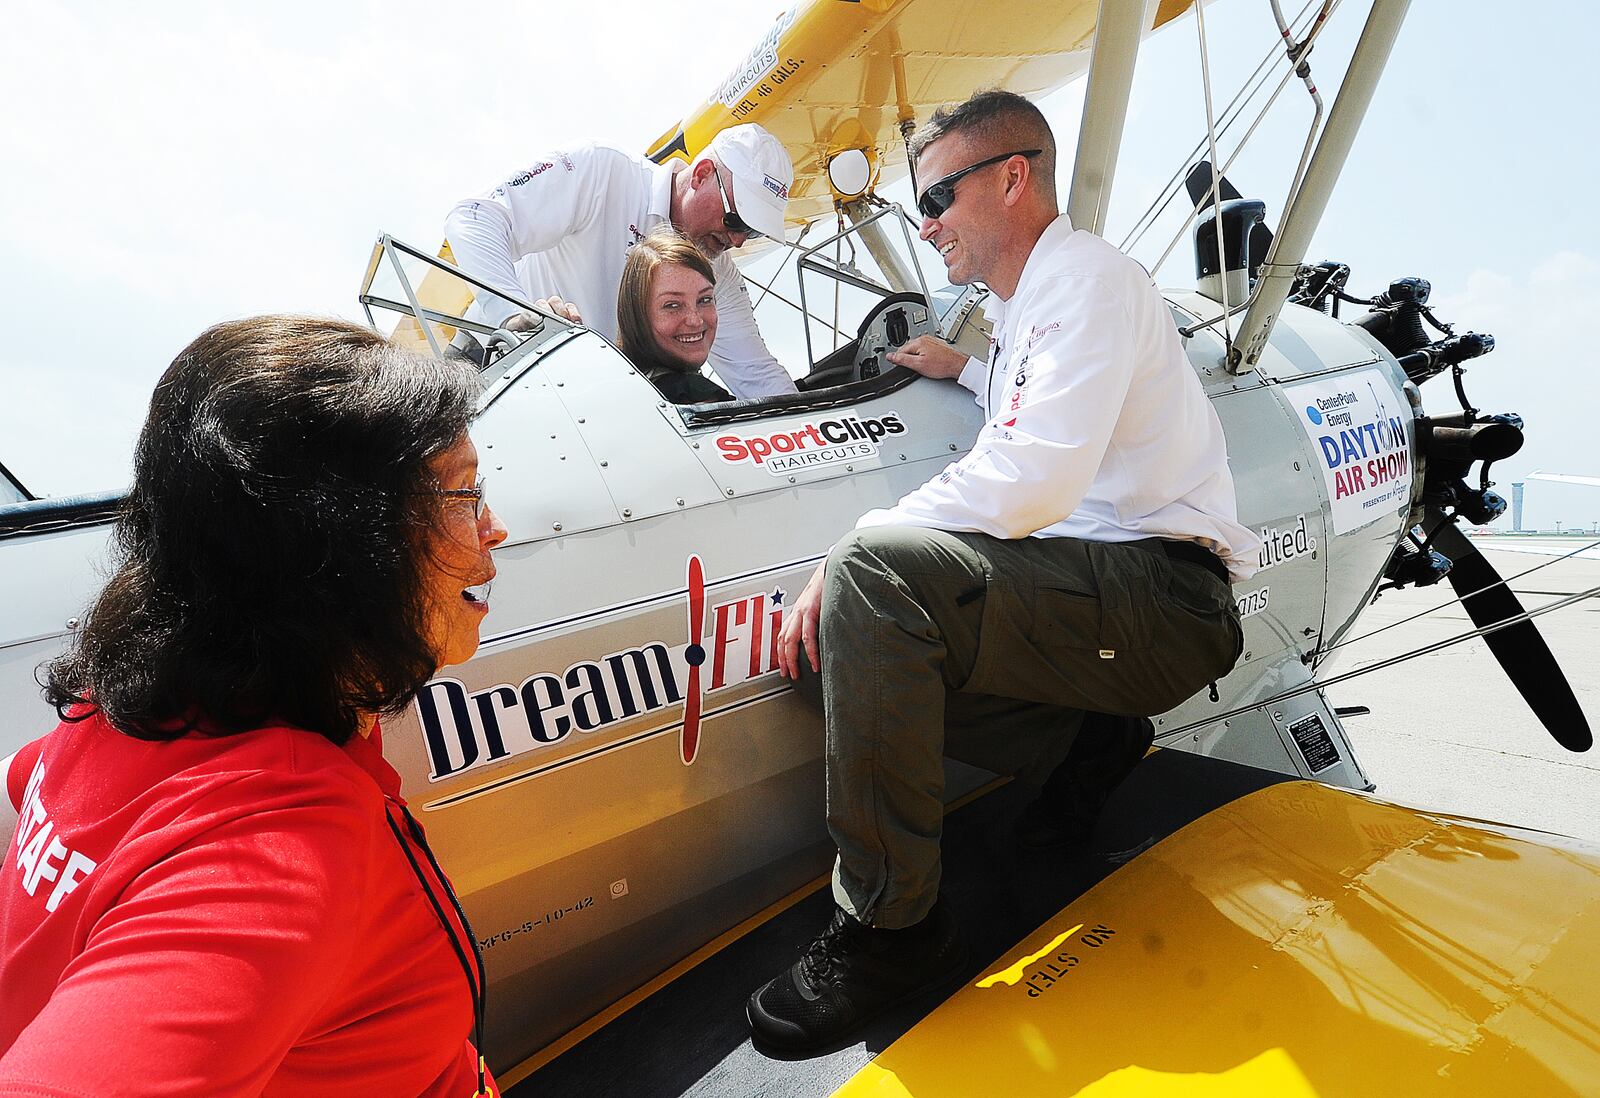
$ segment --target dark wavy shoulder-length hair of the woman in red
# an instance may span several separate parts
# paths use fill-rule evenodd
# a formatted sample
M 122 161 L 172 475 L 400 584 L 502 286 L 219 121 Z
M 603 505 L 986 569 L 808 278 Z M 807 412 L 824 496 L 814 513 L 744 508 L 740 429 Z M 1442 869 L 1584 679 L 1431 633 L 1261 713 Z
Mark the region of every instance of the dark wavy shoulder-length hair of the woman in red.
M 285 722 L 342 744 L 405 706 L 437 669 L 427 461 L 477 395 L 470 367 L 342 320 L 200 333 L 155 386 L 115 570 L 45 696 L 139 739 Z

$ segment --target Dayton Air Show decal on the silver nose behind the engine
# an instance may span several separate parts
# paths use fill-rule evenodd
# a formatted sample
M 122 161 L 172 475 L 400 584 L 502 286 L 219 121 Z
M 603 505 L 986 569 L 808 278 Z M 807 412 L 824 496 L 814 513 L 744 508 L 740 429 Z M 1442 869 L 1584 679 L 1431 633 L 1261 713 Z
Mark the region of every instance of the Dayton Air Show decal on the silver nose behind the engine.
M 1411 498 L 1405 400 L 1382 370 L 1358 370 L 1288 391 L 1310 439 L 1336 535 L 1398 511 Z

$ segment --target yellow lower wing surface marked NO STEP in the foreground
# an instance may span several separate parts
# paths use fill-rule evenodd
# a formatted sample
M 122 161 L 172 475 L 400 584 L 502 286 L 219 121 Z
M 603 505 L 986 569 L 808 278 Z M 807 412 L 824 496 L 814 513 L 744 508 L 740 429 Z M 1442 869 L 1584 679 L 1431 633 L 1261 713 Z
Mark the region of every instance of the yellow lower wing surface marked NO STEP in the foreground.
M 1272 786 L 1117 869 L 837 1093 L 1597 1095 L 1600 852 Z

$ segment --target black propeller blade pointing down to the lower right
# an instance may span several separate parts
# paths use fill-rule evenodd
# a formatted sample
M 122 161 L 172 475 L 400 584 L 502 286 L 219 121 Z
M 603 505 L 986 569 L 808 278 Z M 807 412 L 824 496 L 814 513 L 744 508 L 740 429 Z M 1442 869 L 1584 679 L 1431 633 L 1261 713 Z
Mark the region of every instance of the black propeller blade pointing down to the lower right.
M 1440 522 L 1438 512 L 1429 512 L 1429 522 Z M 1434 547 L 1450 557 L 1450 586 L 1461 595 L 1461 605 L 1477 627 L 1491 626 L 1523 613 L 1522 602 L 1512 589 L 1502 584 L 1499 573 L 1478 547 L 1467 539 L 1454 522 L 1446 522 L 1434 535 Z M 1499 586 L 1491 586 L 1499 584 Z M 1490 587 L 1483 591 L 1483 587 Z M 1474 594 L 1475 592 L 1475 594 Z M 1555 743 L 1568 751 L 1589 751 L 1594 733 L 1584 717 L 1573 688 L 1562 674 L 1550 647 L 1531 621 L 1507 626 L 1483 637 L 1490 651 L 1499 659 L 1512 685 L 1533 709 Z

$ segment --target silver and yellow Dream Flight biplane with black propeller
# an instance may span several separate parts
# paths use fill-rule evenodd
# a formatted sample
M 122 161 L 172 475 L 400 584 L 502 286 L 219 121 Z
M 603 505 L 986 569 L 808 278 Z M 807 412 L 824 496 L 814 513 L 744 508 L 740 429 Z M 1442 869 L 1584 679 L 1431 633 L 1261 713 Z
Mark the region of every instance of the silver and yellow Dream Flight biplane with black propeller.
M 1461 384 L 1493 339 L 1435 317 L 1421 279 L 1362 299 L 1342 264 L 1306 262 L 1406 3 L 1371 3 L 1326 112 L 1309 53 L 1341 5 L 1262 6 L 1317 122 L 1275 230 L 1213 170 L 1210 128 L 1176 176 L 1195 287 L 1166 293 L 1227 432 L 1240 519 L 1264 541 L 1235 592 L 1245 655 L 1158 717 L 1158 751 L 1083 850 L 1018 850 L 1018 792 L 950 762 L 946 877 L 973 972 L 818 1058 L 754 1048 L 742 1020 L 744 996 L 821 922 L 832 856 L 821 719 L 776 674 L 784 597 L 981 426 L 954 384 L 883 359 L 925 333 L 979 354 L 987 339 L 982 287 L 930 287 L 883 192 L 938 104 L 1086 78 L 1062 182 L 1074 222 L 1102 229 L 1139 43 L 1203 21 L 1203 5 L 803 0 L 781 14 L 646 152 L 693 160 L 741 122 L 790 150 L 794 230 L 770 246 L 792 258 L 806 314 L 792 397 L 670 405 L 582 327 L 472 320 L 490 288 L 448 243 L 379 238 L 360 299 L 395 339 L 482 363 L 474 437 L 512 530 L 478 655 L 386 730 L 477 930 L 509 1093 L 1600 1085 L 1586 978 L 1600 852 L 1371 797 L 1323 693 L 1318 671 L 1379 589 L 1448 579 L 1550 735 L 1592 739 L 1531 615 L 1458 527 L 1504 509 L 1488 466 L 1522 442 L 1520 419 L 1474 408 Z M 808 293 L 848 319 L 816 320 Z M 1434 386 L 1424 403 L 1445 373 L 1454 394 Z M 8 711 L 37 704 L 34 667 L 69 640 L 114 514 L 109 496 L 0 504 Z

